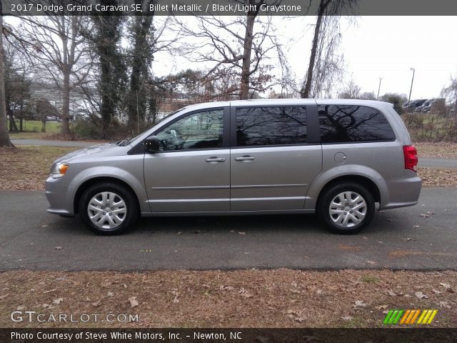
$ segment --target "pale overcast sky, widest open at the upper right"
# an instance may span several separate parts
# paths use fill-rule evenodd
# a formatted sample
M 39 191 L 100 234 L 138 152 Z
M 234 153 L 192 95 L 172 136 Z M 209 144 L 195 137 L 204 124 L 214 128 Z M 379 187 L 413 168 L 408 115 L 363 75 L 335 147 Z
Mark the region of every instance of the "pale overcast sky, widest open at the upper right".
M 362 91 L 380 95 L 394 92 L 408 95 L 416 68 L 411 99 L 432 98 L 457 74 L 457 44 L 455 16 L 358 16 L 355 25 L 342 21 L 341 52 L 346 64 L 345 79 L 353 80 Z M 288 61 L 297 79 L 303 79 L 308 67 L 313 29 L 308 24 L 314 17 L 284 20 L 275 17 L 283 41 L 288 38 Z M 199 68 L 185 59 L 171 61 L 158 54 L 155 68 L 158 74 L 176 72 L 186 67 Z M 336 85 L 336 91 L 342 85 Z

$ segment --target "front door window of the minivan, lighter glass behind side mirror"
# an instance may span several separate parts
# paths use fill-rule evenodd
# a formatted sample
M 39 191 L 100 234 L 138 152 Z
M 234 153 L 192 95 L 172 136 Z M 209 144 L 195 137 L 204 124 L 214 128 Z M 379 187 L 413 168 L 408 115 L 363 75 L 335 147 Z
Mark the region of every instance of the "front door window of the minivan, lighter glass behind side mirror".
M 224 109 L 202 111 L 175 121 L 159 131 L 161 151 L 222 147 Z

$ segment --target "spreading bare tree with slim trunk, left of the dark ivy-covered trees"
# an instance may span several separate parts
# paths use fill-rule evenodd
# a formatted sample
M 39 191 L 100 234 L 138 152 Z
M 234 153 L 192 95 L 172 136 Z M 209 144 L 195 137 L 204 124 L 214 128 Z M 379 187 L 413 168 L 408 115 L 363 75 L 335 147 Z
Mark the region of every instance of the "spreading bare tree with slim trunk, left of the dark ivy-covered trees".
M 81 29 L 87 29 L 84 16 L 23 17 L 19 44 L 26 54 L 39 61 L 51 81 L 62 94 L 61 134 L 70 134 L 70 94 L 84 83 L 90 71 L 91 59 Z

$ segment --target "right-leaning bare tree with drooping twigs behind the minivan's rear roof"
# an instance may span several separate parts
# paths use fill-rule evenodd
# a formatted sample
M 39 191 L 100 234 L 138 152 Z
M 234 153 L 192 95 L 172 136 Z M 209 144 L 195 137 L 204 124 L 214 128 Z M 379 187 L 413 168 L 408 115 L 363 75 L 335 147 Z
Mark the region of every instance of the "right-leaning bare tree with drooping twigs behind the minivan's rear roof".
M 339 20 L 338 15 L 343 10 L 352 9 L 356 3 L 357 0 L 320 0 L 316 26 L 314 26 L 308 71 L 306 72 L 305 82 L 300 91 L 302 98 L 309 98 L 311 96 L 313 78 L 315 79 L 314 93 L 319 94 L 321 89 L 318 89 L 318 79 L 325 79 L 328 76 L 338 76 L 338 74 L 341 74 L 341 60 L 338 58 L 333 59 L 336 47 L 339 44 L 339 38 L 341 37 L 339 26 L 337 25 Z M 329 39 L 328 35 L 333 35 L 334 37 L 324 43 Z M 325 49 L 326 51 L 323 52 Z M 316 67 L 318 69 L 317 72 L 315 71 Z

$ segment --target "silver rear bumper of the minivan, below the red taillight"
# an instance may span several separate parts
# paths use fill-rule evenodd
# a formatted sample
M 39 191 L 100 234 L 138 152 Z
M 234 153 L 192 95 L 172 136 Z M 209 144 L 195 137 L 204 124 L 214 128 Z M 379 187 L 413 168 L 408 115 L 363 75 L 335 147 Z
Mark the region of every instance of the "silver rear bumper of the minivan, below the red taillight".
M 404 179 L 386 180 L 387 197 L 382 199 L 379 209 L 396 209 L 417 204 L 421 195 L 422 180 L 416 173 L 406 171 Z

